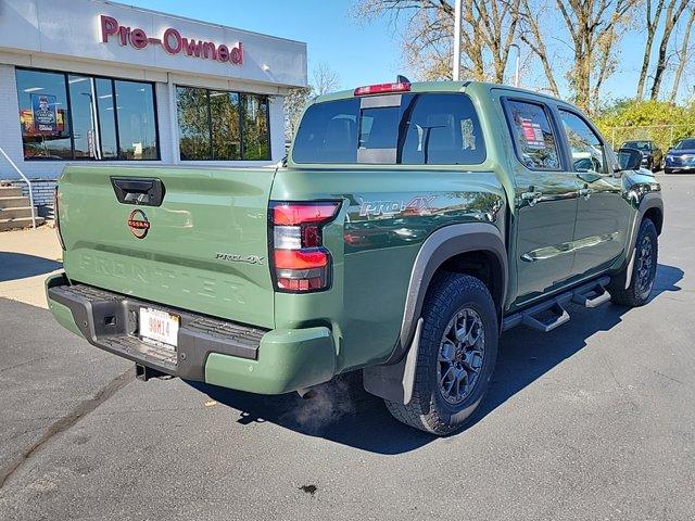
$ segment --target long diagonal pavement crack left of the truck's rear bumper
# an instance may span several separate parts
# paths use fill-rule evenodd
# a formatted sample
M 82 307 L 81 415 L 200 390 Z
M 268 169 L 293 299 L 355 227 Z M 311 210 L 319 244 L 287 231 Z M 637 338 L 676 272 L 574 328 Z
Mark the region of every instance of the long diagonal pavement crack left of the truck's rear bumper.
M 130 368 L 101 387 L 93 397 L 80 402 L 66 416 L 63 416 L 51 423 L 41 437 L 28 445 L 24 450 L 22 450 L 22 453 L 10 460 L 8 465 L 0 469 L 0 488 L 4 486 L 8 480 L 12 478 L 12 475 L 20 470 L 34 454 L 48 444 L 55 435 L 67 431 L 85 416 L 89 415 L 97 407 L 106 402 L 118 390 L 130 383 L 134 379 L 135 369 Z

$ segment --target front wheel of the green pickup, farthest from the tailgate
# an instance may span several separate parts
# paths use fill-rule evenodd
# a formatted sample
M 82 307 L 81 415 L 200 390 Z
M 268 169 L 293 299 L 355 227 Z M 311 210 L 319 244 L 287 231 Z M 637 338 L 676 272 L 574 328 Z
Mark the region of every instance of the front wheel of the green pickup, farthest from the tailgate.
M 610 292 L 611 302 L 630 307 L 646 304 L 654 288 L 658 256 L 659 244 L 656 226 L 650 219 L 643 219 L 640 224 L 640 231 L 634 246 L 634 265 L 630 285 L 626 289 L 628 275 L 628 268 L 626 267 L 610 281 L 608 291 Z

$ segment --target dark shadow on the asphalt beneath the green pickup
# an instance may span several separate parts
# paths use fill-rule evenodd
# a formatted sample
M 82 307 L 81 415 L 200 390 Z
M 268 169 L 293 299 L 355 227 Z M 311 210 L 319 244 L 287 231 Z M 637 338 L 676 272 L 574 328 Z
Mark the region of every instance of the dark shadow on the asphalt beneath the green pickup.
M 683 271 L 659 265 L 652 300 L 664 292 L 680 291 Z M 467 429 L 494 411 L 509 397 L 541 378 L 586 345 L 586 339 L 607 331 L 630 309 L 612 304 L 598 313 L 572 306 L 572 320 L 547 334 L 523 327 L 502 338 L 494 380 L 485 401 Z M 302 434 L 324 437 L 362 450 L 384 455 L 407 453 L 434 440 L 396 421 L 383 402 L 364 391 L 362 373 L 337 377 L 301 398 L 296 393 L 262 396 L 199 382 L 188 382 L 219 404 L 240 411 L 241 424 L 271 422 Z

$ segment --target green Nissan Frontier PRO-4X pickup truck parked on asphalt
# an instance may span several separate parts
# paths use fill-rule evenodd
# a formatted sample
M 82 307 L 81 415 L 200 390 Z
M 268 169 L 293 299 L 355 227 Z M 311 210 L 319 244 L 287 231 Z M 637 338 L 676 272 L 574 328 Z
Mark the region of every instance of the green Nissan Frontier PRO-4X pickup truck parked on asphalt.
M 503 331 L 647 302 L 664 205 L 641 158 L 501 85 L 323 96 L 275 167 L 65 168 L 48 302 L 144 380 L 280 394 L 362 370 L 397 419 L 450 434 Z

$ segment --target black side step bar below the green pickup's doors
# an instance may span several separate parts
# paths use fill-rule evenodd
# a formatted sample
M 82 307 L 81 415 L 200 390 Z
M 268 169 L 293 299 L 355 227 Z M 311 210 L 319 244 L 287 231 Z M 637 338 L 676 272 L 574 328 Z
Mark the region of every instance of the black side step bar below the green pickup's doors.
M 545 333 L 553 331 L 569 321 L 569 313 L 565 306 L 570 302 L 589 308 L 598 307 L 608 302 L 610 300 L 610 293 L 606 290 L 608 282 L 610 282 L 610 278 L 604 277 L 509 315 L 504 318 L 502 330 L 507 331 L 523 325 Z

